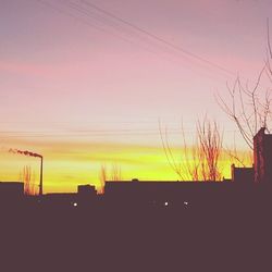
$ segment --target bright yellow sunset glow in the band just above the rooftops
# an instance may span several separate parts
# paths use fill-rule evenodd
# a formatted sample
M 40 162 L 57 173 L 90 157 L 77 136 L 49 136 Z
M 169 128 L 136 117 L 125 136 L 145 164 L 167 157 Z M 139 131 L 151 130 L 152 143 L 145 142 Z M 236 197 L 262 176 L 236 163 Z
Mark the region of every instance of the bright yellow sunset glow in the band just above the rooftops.
M 41 153 L 44 160 L 44 191 L 73 193 L 77 185 L 101 185 L 99 176 L 101 166 L 106 165 L 111 174 L 112 165 L 118 165 L 122 172 L 122 180 L 138 178 L 140 181 L 180 181 L 170 168 L 161 146 L 145 146 L 119 143 L 73 143 L 73 141 L 22 141 L 5 143 L 10 147 Z M 172 148 L 178 161 L 183 157 L 181 147 Z M 239 151 L 239 154 L 245 151 Z M 20 181 L 23 168 L 29 165 L 34 172 L 35 184 L 39 183 L 38 158 L 24 157 L 8 152 L 2 148 L 0 152 L 0 181 Z M 231 176 L 231 164 L 226 154 L 223 154 L 219 168 L 222 175 Z M 247 165 L 250 165 L 248 160 Z M 109 177 L 110 180 L 110 177 Z

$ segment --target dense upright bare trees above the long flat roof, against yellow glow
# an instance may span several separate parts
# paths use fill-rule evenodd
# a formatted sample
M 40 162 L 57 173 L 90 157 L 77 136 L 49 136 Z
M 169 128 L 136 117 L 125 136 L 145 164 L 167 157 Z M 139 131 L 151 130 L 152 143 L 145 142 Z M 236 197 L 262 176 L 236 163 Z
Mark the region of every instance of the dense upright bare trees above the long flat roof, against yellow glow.
M 168 129 L 164 132 L 160 125 L 160 136 L 164 154 L 171 169 L 182 181 L 219 181 L 222 178 L 222 171 L 219 161 L 222 156 L 223 135 L 217 122 L 205 119 L 197 122 L 196 138 L 191 146 L 188 146 L 185 132 L 182 126 L 182 153 L 180 159 L 173 153 L 169 144 Z

